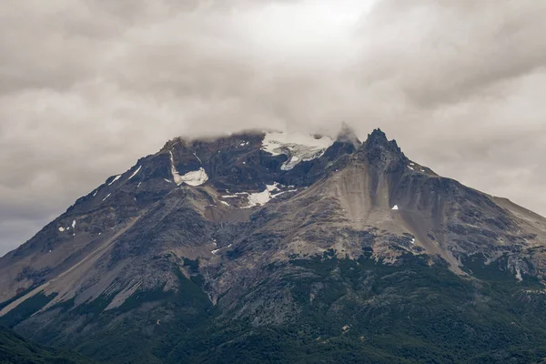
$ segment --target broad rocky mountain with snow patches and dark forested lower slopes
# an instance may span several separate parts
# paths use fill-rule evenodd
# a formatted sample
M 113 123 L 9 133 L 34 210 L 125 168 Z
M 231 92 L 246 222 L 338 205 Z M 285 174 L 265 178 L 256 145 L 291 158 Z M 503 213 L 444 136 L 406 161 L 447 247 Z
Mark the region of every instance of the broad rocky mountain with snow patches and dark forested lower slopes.
M 111 363 L 541 362 L 545 241 L 379 129 L 176 138 L 0 258 L 0 324 Z

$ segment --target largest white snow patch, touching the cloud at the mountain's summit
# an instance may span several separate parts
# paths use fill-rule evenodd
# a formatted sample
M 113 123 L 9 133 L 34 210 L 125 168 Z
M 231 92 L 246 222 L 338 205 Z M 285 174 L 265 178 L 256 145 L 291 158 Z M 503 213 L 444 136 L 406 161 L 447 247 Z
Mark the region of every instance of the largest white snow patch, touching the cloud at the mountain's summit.
M 286 155 L 288 160 L 281 169 L 289 170 L 300 162 L 321 157 L 332 144 L 334 141 L 329 136 L 316 138 L 311 135 L 275 132 L 266 133 L 262 140 L 262 150 L 272 156 Z

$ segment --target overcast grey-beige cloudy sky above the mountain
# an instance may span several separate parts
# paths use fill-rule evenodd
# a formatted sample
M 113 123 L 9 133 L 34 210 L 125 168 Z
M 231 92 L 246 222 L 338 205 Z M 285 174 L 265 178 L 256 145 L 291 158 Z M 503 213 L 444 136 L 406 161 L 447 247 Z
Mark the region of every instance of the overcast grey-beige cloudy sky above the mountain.
M 546 215 L 546 1 L 4 0 L 0 255 L 174 136 L 381 127 Z

